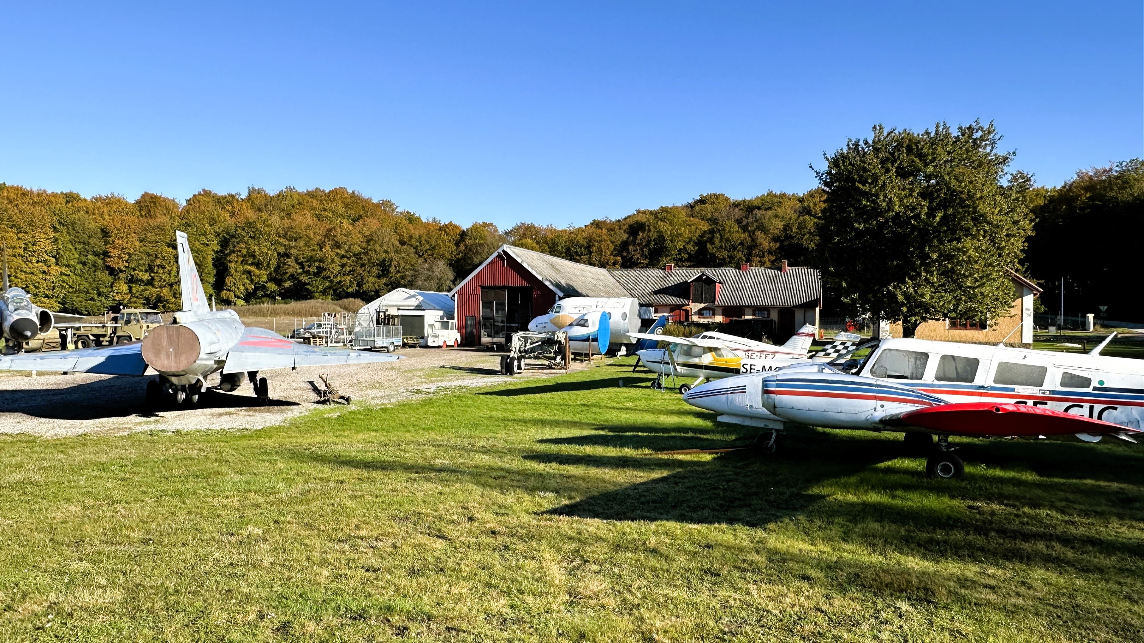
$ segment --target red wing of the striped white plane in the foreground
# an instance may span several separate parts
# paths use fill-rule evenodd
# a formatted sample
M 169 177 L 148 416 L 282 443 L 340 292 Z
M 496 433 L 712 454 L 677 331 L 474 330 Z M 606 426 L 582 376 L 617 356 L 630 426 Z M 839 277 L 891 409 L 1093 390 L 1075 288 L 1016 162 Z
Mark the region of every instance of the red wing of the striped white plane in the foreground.
M 903 413 L 899 421 L 963 436 L 1048 436 L 1141 432 L 1136 429 L 1028 404 L 971 402 L 940 404 Z

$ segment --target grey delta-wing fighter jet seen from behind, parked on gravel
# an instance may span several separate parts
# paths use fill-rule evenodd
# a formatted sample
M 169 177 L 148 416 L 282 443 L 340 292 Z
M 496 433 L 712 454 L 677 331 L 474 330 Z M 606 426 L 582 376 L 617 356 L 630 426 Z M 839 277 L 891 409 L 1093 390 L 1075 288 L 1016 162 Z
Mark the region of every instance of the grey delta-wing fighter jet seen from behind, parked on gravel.
M 0 357 L 0 371 L 62 371 L 142 376 L 148 366 L 159 373 L 146 386 L 146 399 L 176 404 L 198 402 L 206 378 L 221 371 L 219 388 L 230 392 L 246 379 L 265 400 L 269 386 L 259 371 L 391 362 L 396 355 L 317 348 L 294 343 L 265 328 L 247 328 L 233 310 L 210 310 L 191 257 L 186 235 L 175 232 L 182 310 L 170 324 L 153 328 L 141 342 L 46 354 Z

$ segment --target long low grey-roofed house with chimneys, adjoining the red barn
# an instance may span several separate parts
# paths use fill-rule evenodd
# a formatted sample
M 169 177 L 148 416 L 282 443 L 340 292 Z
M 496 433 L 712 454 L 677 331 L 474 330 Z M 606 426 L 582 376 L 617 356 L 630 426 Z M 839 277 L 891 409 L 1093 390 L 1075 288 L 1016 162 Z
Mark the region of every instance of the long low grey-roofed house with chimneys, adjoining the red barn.
M 788 267 L 636 268 L 609 270 L 639 305 L 676 322 L 753 320 L 785 341 L 803 324 L 818 326 L 823 281 L 818 270 Z

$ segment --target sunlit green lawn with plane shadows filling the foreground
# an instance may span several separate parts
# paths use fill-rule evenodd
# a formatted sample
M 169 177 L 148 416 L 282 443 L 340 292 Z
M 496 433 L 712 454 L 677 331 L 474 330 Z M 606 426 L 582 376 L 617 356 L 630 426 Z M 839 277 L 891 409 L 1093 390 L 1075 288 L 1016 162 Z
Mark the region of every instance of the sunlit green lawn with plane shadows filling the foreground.
M 2 437 L 0 638 L 1144 638 L 1144 445 L 961 440 L 962 482 L 897 434 L 649 455 L 752 436 L 629 370 Z

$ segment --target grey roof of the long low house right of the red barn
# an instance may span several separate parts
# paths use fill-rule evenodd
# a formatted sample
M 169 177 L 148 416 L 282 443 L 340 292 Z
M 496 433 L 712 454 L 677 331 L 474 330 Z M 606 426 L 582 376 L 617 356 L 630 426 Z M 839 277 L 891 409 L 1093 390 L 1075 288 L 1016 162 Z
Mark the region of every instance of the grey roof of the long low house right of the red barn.
M 787 272 L 769 268 L 676 268 L 670 272 L 617 268 L 609 272 L 643 304 L 686 305 L 691 296 L 688 281 L 700 272 L 723 284 L 715 305 L 800 305 L 823 294 L 821 276 L 813 268 L 791 268 Z

